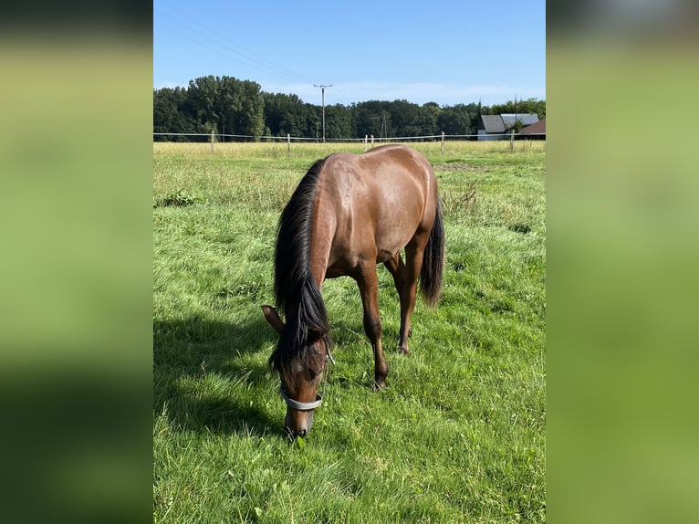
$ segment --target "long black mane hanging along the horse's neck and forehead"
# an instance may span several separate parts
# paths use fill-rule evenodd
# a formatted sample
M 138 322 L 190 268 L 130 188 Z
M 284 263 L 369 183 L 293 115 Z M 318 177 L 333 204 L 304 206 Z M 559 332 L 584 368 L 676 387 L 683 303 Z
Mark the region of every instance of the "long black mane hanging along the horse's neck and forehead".
M 310 273 L 313 208 L 324 162 L 319 160 L 311 166 L 279 217 L 275 299 L 276 309 L 284 309 L 287 324 L 276 350 L 269 358 L 277 370 L 280 370 L 283 362 L 288 362 L 299 352 L 304 361 L 308 360 L 310 344 L 318 337 L 325 338 L 328 346 L 332 344 L 328 312 Z

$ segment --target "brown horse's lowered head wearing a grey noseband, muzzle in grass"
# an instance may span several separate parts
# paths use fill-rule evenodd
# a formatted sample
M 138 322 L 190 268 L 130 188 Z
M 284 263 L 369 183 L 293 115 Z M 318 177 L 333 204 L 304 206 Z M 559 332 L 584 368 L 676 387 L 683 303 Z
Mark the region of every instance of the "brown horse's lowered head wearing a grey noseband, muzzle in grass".
M 309 329 L 303 348 L 282 347 L 293 344 L 293 337 L 285 337 L 286 325 L 276 309 L 262 306 L 267 322 L 279 335 L 279 344 L 270 358 L 281 380 L 281 395 L 287 402 L 285 429 L 290 438 L 308 435 L 313 424 L 313 410 L 321 402 L 318 387 L 330 357 L 330 338 L 321 330 Z

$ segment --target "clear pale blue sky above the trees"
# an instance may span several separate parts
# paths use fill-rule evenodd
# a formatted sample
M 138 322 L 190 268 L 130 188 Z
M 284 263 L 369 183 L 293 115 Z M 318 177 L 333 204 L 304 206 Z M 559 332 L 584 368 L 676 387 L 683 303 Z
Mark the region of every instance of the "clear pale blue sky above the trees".
M 153 87 L 207 75 L 326 105 L 546 99 L 546 2 L 154 0 Z

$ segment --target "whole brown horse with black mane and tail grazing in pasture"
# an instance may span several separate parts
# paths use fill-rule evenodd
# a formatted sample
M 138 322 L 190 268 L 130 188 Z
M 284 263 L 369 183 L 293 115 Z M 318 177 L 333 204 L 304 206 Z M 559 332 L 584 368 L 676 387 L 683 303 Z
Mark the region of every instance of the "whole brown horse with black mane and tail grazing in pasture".
M 405 250 L 405 263 L 401 252 Z M 336 153 L 308 170 L 284 208 L 275 253 L 276 309 L 263 306 L 279 334 L 269 359 L 287 401 L 287 434 L 306 436 L 333 345 L 320 295 L 325 278 L 350 276 L 360 288 L 374 381 L 389 368 L 381 347 L 377 264 L 388 267 L 401 299 L 399 350 L 408 352 L 417 280 L 429 306 L 442 289 L 444 233 L 437 181 L 424 156 L 401 145 L 360 155 Z

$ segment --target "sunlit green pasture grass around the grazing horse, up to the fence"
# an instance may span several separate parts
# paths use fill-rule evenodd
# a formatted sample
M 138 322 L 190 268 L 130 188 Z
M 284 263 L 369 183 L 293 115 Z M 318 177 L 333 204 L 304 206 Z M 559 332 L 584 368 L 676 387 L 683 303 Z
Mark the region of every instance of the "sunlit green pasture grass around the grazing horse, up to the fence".
M 154 204 L 183 201 L 153 209 L 155 522 L 546 519 L 546 145 L 415 147 L 443 195 L 443 299 L 418 302 L 398 354 L 380 267 L 391 373 L 375 392 L 356 284 L 326 282 L 337 365 L 289 444 L 259 308 L 274 303 L 276 221 L 312 162 L 363 145 L 153 145 Z

